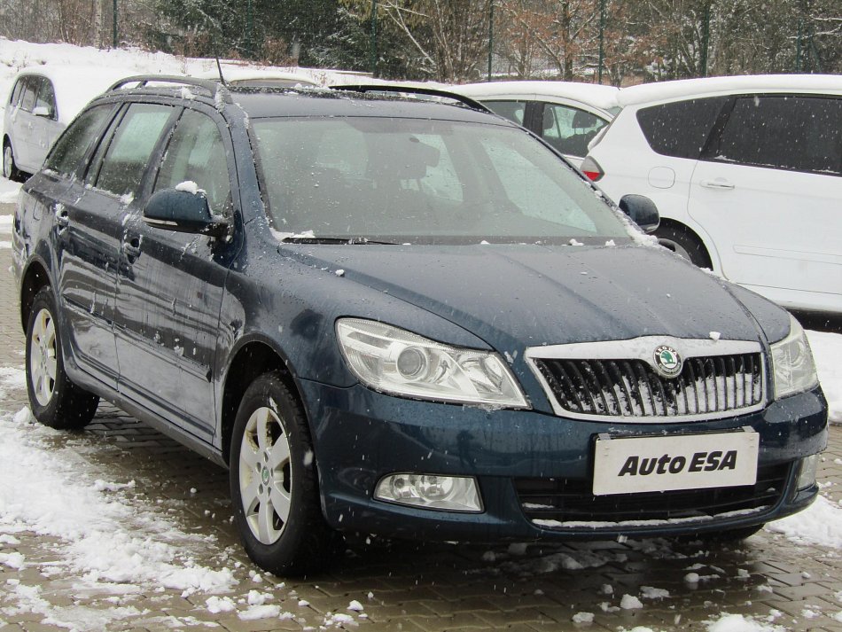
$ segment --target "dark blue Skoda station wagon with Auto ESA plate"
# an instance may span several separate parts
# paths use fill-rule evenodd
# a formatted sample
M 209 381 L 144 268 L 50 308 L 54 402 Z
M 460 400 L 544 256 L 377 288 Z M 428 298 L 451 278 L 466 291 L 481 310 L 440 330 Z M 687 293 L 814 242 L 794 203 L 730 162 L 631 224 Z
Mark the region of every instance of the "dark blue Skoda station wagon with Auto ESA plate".
M 105 398 L 229 467 L 263 568 L 341 532 L 740 538 L 815 498 L 799 324 L 524 129 L 167 81 L 97 98 L 22 188 L 29 401 L 81 428 Z

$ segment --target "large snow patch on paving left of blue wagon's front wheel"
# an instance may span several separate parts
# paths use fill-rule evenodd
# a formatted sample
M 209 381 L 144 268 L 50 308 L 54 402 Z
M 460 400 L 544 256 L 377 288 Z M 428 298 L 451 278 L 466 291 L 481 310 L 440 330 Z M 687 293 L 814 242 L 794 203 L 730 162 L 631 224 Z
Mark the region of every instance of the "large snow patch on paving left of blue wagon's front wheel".
M 10 380 L 19 375 L 4 370 L 3 384 Z M 238 583 L 228 568 L 196 564 L 191 550 L 207 548 L 207 538 L 184 534 L 152 505 L 130 499 L 132 483 L 101 480 L 74 449 L 50 441 L 55 433 L 32 424 L 27 409 L 0 416 L 0 533 L 58 538 L 55 566 L 79 576 L 82 587 L 105 581 L 191 594 Z

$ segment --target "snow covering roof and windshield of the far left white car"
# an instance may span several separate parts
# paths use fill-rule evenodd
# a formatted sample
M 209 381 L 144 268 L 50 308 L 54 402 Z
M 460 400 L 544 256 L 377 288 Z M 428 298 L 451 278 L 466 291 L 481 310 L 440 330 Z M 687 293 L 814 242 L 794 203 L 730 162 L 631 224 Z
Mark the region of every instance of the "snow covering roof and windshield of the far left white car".
M 67 125 L 92 98 L 108 90 L 118 79 L 129 77 L 136 72 L 113 66 L 29 66 L 19 71 L 15 82 L 25 74 L 37 74 L 47 77 L 52 82 L 56 92 L 58 122 Z

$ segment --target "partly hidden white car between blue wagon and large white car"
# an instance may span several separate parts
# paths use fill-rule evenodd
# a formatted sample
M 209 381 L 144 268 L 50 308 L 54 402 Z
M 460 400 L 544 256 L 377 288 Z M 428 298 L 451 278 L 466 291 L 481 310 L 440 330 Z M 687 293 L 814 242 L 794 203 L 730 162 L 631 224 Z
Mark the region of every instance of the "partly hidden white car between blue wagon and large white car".
M 595 83 L 486 82 L 453 90 L 533 131 L 576 166 L 589 142 L 620 112 L 620 90 Z

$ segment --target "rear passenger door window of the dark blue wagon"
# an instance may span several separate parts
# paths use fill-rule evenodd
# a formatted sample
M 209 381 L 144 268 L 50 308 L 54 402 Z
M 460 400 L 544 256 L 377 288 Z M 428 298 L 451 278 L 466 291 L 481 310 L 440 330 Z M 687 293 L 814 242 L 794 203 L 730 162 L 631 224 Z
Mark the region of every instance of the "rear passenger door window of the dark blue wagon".
M 169 105 L 132 104 L 114 132 L 97 176 L 97 188 L 115 195 L 135 195 L 152 150 L 167 127 Z

